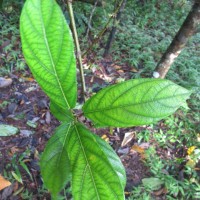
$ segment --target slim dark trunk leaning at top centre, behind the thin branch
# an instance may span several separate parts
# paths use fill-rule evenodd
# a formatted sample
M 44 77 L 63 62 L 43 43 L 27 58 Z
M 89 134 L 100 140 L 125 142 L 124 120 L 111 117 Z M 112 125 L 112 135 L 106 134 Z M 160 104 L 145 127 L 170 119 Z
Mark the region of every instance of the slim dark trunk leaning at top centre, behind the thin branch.
M 117 16 L 114 20 L 114 24 L 113 24 L 113 27 L 112 27 L 112 30 L 110 32 L 110 35 L 108 37 L 108 42 L 107 42 L 107 45 L 106 45 L 106 48 L 105 48 L 105 52 L 103 54 L 103 57 L 107 57 L 108 54 L 109 54 L 109 51 L 110 51 L 110 48 L 112 46 L 112 43 L 114 41 L 114 38 L 115 38 L 115 33 L 117 31 L 117 25 L 119 24 L 120 22 L 120 19 L 121 19 L 121 14 L 122 14 L 122 11 L 124 10 L 125 8 L 125 5 L 126 5 L 126 1 L 127 0 L 123 0 L 121 6 L 120 6 L 120 9 L 119 9 L 119 12 L 117 13 Z

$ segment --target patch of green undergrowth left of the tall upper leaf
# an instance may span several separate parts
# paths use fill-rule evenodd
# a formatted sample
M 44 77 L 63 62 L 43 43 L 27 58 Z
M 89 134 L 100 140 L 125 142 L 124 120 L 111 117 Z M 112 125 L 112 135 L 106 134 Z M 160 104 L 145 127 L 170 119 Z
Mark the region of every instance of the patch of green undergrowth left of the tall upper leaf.
M 0 12 L 0 75 L 24 70 L 26 65 L 19 40 L 19 11 Z

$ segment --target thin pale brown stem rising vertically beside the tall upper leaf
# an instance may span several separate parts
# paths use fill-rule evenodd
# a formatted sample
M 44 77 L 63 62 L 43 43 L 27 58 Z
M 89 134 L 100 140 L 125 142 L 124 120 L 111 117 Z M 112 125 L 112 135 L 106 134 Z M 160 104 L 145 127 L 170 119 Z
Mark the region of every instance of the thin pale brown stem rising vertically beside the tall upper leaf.
M 84 77 L 84 72 L 83 72 L 81 49 L 80 49 L 80 45 L 79 45 L 79 41 L 78 41 L 78 34 L 76 31 L 76 24 L 75 24 L 75 20 L 74 20 L 72 0 L 67 0 L 67 5 L 68 5 L 68 9 L 69 9 L 71 27 L 72 27 L 72 32 L 74 35 L 74 41 L 75 41 L 75 45 L 76 45 L 76 54 L 77 54 L 78 67 L 79 67 L 80 79 L 81 79 L 81 93 L 82 93 L 83 100 L 85 102 L 85 100 L 86 100 L 86 98 L 85 98 L 85 94 L 86 94 L 85 77 Z

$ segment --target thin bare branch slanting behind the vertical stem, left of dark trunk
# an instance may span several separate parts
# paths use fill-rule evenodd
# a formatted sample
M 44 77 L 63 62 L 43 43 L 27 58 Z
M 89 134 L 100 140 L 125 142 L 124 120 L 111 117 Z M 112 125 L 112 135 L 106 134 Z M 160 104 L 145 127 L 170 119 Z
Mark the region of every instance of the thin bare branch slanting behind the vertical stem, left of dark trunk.
M 83 57 L 88 54 L 93 46 L 99 42 L 99 40 L 102 38 L 102 36 L 104 35 L 104 33 L 106 32 L 108 25 L 110 24 L 110 22 L 112 21 L 113 18 L 115 18 L 116 14 L 119 12 L 119 9 L 121 8 L 121 5 L 123 3 L 123 0 L 120 2 L 119 6 L 117 7 L 117 9 L 115 10 L 115 12 L 110 16 L 110 18 L 108 19 L 106 25 L 104 26 L 104 28 L 99 32 L 99 34 L 97 35 L 97 37 L 94 39 L 93 43 L 88 47 L 88 49 L 83 53 Z

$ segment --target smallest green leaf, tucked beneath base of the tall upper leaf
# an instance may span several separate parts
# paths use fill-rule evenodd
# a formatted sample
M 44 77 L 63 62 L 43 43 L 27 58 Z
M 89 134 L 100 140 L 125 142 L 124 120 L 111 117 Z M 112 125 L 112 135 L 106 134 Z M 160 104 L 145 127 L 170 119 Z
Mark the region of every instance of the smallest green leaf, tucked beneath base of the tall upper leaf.
M 61 106 L 58 106 L 52 101 L 50 102 L 50 110 L 51 110 L 51 113 L 54 115 L 54 117 L 56 117 L 56 119 L 58 119 L 59 121 L 71 122 L 73 119 L 73 116 L 70 110 L 63 108 Z

